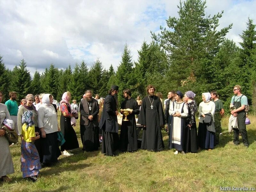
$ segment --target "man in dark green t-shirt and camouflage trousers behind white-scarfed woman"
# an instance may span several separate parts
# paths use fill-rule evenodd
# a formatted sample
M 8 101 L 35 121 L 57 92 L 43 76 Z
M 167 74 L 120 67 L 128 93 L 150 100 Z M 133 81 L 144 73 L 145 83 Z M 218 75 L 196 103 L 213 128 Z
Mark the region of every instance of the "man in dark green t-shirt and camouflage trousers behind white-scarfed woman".
M 215 103 L 215 113 L 214 113 L 214 125 L 215 125 L 215 144 L 219 144 L 220 133 L 222 132 L 220 120 L 224 115 L 224 108 L 221 100 L 219 100 L 219 95 L 216 91 L 211 92 L 212 101 Z

